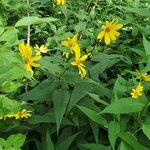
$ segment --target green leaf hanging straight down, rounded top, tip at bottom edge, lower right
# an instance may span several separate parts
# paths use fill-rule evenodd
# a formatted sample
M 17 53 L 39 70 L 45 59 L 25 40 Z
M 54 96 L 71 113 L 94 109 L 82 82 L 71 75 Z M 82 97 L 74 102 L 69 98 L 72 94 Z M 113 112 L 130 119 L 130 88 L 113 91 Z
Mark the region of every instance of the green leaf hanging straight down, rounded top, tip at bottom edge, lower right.
M 115 150 L 115 143 L 117 137 L 119 136 L 119 132 L 120 132 L 119 124 L 115 121 L 111 121 L 108 125 L 108 138 L 113 150 Z

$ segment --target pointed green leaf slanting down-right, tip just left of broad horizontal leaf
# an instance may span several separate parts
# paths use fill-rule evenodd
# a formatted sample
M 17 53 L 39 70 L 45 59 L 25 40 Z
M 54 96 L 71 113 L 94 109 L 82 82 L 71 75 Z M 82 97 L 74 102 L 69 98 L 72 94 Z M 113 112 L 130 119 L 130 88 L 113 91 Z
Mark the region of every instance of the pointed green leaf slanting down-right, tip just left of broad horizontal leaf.
M 92 121 L 99 125 L 107 126 L 107 121 L 101 115 L 98 115 L 96 111 L 91 110 L 84 106 L 77 106 L 86 116 L 88 116 Z

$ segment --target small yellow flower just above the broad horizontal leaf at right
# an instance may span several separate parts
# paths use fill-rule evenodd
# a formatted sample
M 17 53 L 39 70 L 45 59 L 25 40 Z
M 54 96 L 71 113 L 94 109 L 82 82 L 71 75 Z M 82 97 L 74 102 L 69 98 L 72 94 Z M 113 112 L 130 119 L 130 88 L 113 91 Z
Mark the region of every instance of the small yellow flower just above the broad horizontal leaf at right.
M 143 86 L 139 82 L 137 87 L 135 89 L 132 89 L 132 92 L 130 94 L 132 95 L 132 98 L 137 99 L 138 97 L 142 96 L 142 92 L 143 92 Z

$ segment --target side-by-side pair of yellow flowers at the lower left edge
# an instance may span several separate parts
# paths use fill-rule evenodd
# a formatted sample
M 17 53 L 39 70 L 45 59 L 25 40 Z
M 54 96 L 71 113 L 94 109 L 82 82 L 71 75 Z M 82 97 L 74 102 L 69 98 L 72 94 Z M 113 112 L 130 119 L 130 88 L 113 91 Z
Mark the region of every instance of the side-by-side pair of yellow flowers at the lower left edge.
M 31 117 L 31 110 L 23 109 L 21 111 L 18 111 L 15 114 L 8 114 L 0 117 L 0 120 L 6 120 L 6 119 L 28 119 Z

